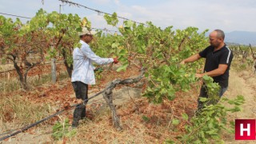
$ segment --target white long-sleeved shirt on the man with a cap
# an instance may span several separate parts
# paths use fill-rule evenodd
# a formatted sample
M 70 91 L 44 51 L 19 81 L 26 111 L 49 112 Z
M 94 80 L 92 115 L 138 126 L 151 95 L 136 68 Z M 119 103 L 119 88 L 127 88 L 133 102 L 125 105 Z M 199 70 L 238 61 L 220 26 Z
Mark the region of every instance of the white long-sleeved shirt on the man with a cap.
M 106 65 L 114 62 L 113 58 L 100 58 L 90 50 L 90 46 L 80 40 L 81 48 L 76 47 L 73 51 L 73 72 L 71 82 L 80 81 L 85 84 L 94 85 L 94 66 L 92 62 L 98 65 Z

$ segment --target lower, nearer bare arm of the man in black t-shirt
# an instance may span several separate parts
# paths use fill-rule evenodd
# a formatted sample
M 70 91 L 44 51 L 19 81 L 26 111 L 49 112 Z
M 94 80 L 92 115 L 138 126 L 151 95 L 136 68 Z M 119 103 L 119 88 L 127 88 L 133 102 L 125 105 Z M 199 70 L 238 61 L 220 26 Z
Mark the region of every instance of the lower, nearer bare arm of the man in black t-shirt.
M 226 69 L 227 69 L 227 66 L 226 64 L 219 64 L 218 65 L 218 69 L 215 69 L 215 70 L 211 70 L 209 72 L 206 72 L 206 73 L 202 73 L 202 74 L 196 74 L 195 76 L 197 78 L 202 78 L 204 75 L 208 75 L 210 77 L 216 77 L 216 76 L 219 76 L 219 75 L 222 75 L 225 73 Z

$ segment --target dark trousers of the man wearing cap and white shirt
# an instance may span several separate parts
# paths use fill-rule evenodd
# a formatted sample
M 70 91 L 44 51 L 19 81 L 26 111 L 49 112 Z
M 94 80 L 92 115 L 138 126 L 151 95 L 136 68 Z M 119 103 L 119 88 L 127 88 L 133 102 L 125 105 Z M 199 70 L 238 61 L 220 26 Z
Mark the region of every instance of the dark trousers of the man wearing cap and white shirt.
M 88 98 L 88 85 L 83 82 L 72 82 L 72 86 L 74 88 L 75 97 L 78 99 L 86 100 Z M 73 126 L 78 126 L 79 120 L 86 117 L 86 102 L 83 104 L 79 104 L 74 109 L 73 116 Z

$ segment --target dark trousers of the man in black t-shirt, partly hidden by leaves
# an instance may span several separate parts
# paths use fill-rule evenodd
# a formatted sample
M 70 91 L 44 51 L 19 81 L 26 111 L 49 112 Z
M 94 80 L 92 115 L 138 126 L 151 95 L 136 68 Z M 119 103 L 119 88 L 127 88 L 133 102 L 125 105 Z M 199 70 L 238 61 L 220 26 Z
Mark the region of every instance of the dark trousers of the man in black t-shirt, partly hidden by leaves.
M 219 98 L 215 98 L 215 99 L 210 99 L 210 101 L 207 101 L 207 104 L 217 104 L 219 99 L 222 97 L 222 95 L 225 93 L 225 91 L 227 90 L 227 87 L 221 87 L 220 90 L 218 91 L 218 96 Z M 200 95 L 199 98 L 209 98 L 208 94 L 207 94 L 207 89 L 205 85 L 202 85 L 201 90 L 200 90 Z M 203 108 L 203 104 L 204 102 L 201 102 L 198 98 L 198 111 L 202 110 Z

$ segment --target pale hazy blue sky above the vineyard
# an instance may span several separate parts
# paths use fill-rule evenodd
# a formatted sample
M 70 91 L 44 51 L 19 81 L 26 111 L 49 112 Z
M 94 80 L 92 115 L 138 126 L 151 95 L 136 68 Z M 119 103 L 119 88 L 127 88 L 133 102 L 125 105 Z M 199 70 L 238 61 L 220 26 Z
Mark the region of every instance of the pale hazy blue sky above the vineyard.
M 84 6 L 102 10 L 138 22 L 151 21 L 162 28 L 187 26 L 205 29 L 222 29 L 225 32 L 245 30 L 256 32 L 256 0 L 70 0 Z M 0 13 L 33 17 L 43 8 L 47 12 L 59 11 L 58 0 L 0 0 Z M 93 27 L 114 29 L 106 26 L 101 15 L 76 6 L 62 6 L 62 13 L 78 14 L 92 22 Z M 6 16 L 10 17 L 10 16 Z M 21 18 L 26 22 L 26 19 Z M 119 19 L 122 22 L 122 19 Z

